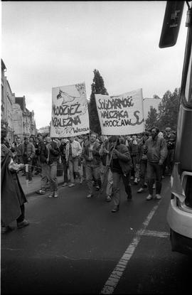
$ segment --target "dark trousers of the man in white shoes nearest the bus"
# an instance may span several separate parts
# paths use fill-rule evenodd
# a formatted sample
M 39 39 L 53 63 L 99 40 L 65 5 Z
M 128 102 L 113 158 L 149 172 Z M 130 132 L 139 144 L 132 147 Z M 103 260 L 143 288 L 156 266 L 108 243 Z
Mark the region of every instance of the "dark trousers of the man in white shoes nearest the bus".
M 151 163 L 147 161 L 146 173 L 150 195 L 153 194 L 154 176 L 156 178 L 156 194 L 160 194 L 162 165 L 159 165 L 159 163 Z

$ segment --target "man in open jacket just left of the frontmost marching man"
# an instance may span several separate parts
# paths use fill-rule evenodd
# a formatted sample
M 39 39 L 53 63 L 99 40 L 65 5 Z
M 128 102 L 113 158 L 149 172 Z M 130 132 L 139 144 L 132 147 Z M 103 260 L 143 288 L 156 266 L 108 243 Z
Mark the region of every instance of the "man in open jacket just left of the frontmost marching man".
M 95 188 L 100 189 L 100 143 L 96 141 L 97 134 L 92 132 L 90 134 L 90 140 L 85 141 L 82 151 L 82 156 L 85 159 L 85 171 L 86 171 L 86 180 L 87 186 L 89 188 L 89 194 L 87 198 L 91 198 L 93 195 L 93 185 L 92 180 L 95 180 Z

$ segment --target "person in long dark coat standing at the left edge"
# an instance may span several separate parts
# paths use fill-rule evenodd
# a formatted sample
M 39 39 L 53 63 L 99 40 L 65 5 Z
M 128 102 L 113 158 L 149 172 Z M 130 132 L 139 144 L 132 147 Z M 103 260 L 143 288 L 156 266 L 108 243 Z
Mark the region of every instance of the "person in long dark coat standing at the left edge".
M 1 233 L 12 230 L 10 223 L 16 220 L 17 227 L 29 225 L 25 219 L 24 203 L 27 202 L 17 171 L 23 164 L 16 164 L 12 152 L 6 146 L 6 131 L 1 130 Z

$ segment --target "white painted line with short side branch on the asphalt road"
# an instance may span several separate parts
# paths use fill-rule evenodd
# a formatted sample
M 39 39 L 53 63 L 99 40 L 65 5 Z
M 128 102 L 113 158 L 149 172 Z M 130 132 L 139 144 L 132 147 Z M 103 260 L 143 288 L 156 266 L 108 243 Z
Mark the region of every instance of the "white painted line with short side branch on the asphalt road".
M 161 203 L 161 200 L 159 201 L 159 203 Z M 142 228 L 140 230 L 137 230 L 131 244 L 127 247 L 127 250 L 124 252 L 122 258 L 117 263 L 116 267 L 112 271 L 112 274 L 110 274 L 110 277 L 107 279 L 104 287 L 102 288 L 101 294 L 112 294 L 114 292 L 114 289 L 119 283 L 119 279 L 122 277 L 124 269 L 127 267 L 129 259 L 131 259 L 134 250 L 137 248 L 137 245 L 142 238 L 142 235 L 145 235 L 145 233 L 146 235 L 149 235 L 150 231 L 146 231 L 146 227 L 149 225 L 151 218 L 154 216 L 156 209 L 159 207 L 159 203 L 158 205 L 155 205 L 149 215 L 147 215 L 146 220 L 144 220 L 144 222 L 142 223 Z M 154 233 L 154 231 L 151 231 L 151 233 L 152 232 Z

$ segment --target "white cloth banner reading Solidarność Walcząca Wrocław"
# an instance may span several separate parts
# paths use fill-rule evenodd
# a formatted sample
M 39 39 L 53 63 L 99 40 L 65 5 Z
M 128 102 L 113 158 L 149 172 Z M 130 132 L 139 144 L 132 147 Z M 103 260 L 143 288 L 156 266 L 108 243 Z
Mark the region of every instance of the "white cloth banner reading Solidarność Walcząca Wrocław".
M 104 135 L 144 132 L 142 88 L 122 95 L 95 95 L 100 127 Z

